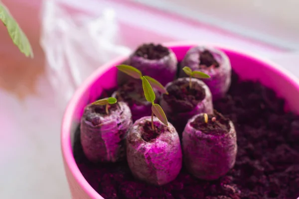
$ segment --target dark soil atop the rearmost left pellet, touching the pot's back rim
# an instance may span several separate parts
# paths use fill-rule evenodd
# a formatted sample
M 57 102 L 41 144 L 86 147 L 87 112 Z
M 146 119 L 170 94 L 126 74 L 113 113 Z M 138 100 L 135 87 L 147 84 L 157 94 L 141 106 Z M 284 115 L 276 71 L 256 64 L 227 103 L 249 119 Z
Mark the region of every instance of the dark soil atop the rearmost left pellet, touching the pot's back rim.
M 139 57 L 144 57 L 149 60 L 158 60 L 165 56 L 169 55 L 168 48 L 160 45 L 160 44 L 144 44 L 140 46 L 134 53 L 134 55 Z

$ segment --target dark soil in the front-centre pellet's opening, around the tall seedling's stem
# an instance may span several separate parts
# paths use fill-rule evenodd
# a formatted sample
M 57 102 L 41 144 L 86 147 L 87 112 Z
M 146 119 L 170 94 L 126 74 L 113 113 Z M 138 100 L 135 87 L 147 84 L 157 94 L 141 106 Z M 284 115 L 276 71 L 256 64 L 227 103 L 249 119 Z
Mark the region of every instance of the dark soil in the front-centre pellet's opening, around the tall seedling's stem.
M 161 133 L 165 132 L 167 130 L 167 127 L 158 123 L 158 122 L 153 122 L 154 129 L 151 128 L 151 122 L 146 122 L 143 125 L 144 132 L 142 133 L 141 137 L 144 139 L 146 142 L 151 142 L 155 138 L 157 138 Z

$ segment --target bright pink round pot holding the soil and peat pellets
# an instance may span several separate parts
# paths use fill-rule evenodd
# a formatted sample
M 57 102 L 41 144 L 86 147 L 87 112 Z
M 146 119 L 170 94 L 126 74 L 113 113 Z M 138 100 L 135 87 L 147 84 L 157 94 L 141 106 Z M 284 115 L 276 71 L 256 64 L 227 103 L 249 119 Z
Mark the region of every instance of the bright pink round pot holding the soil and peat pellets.
M 177 59 L 181 61 L 187 50 L 200 42 L 176 42 L 164 44 L 173 50 Z M 274 89 L 280 97 L 286 100 L 286 109 L 292 109 L 299 113 L 299 79 L 276 64 L 266 61 L 258 56 L 233 50 L 214 44 L 223 50 L 230 58 L 233 69 L 244 80 L 259 80 L 263 85 Z M 70 100 L 62 122 L 61 148 L 65 172 L 73 199 L 103 199 L 85 180 L 79 171 L 72 153 L 74 132 L 80 123 L 84 106 L 96 100 L 103 89 L 112 89 L 117 85 L 116 65 L 124 61 L 126 57 L 119 58 L 93 73 Z

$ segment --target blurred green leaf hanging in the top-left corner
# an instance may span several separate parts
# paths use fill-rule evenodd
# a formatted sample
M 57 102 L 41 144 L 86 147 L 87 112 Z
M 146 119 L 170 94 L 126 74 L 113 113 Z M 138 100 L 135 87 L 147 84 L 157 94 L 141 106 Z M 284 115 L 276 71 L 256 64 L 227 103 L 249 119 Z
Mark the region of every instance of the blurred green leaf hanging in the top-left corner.
M 26 57 L 30 56 L 33 58 L 33 51 L 28 38 L 2 2 L 0 2 L 0 20 L 6 26 L 9 36 L 19 50 L 25 54 Z

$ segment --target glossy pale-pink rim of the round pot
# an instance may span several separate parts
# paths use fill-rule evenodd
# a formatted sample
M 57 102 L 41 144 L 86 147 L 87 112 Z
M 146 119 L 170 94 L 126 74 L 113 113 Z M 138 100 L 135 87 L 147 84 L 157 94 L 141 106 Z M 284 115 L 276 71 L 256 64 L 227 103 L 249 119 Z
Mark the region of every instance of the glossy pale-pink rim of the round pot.
M 164 43 L 163 45 L 173 48 L 173 47 L 181 47 L 181 48 L 186 48 L 186 47 L 191 47 L 195 45 L 206 45 L 206 46 L 215 46 L 220 49 L 226 49 L 228 51 L 231 51 L 235 54 L 239 54 L 240 56 L 244 56 L 248 59 L 251 60 L 256 60 L 259 61 L 260 63 L 263 63 L 267 70 L 273 71 L 274 73 L 280 74 L 283 79 L 286 79 L 288 84 L 293 85 L 293 87 L 296 88 L 299 94 L 299 79 L 294 76 L 292 73 L 289 71 L 285 70 L 284 68 L 278 66 L 277 64 L 265 60 L 264 58 L 259 57 L 258 55 L 253 55 L 252 53 L 246 53 L 242 52 L 237 49 L 232 49 L 227 46 L 223 45 L 218 45 L 214 43 L 205 43 L 205 42 L 199 42 L 199 41 L 187 41 L 187 42 L 169 42 L 169 43 Z M 75 108 L 78 106 L 78 103 L 80 101 L 81 96 L 84 94 L 84 91 L 86 91 L 93 82 L 95 82 L 98 77 L 105 73 L 111 66 L 115 66 L 119 64 L 121 61 L 126 59 L 127 57 L 121 57 L 118 58 L 108 64 L 105 64 L 104 66 L 100 67 L 97 69 L 85 82 L 78 88 L 78 90 L 75 92 L 74 96 L 72 99 L 69 101 L 66 111 L 63 116 L 62 120 L 62 128 L 61 128 L 61 149 L 62 149 L 62 155 L 64 159 L 64 164 L 65 167 L 69 169 L 69 172 L 75 179 L 76 183 L 82 188 L 82 190 L 85 192 L 85 195 L 89 196 L 90 199 L 104 199 L 101 197 L 90 185 L 89 183 L 85 180 L 83 175 L 81 174 L 73 153 L 72 153 L 72 144 L 71 144 L 71 125 L 72 125 L 72 118 L 74 114 Z M 294 94 L 296 95 L 296 94 Z M 299 106 L 296 107 L 295 112 L 299 113 Z M 71 188 L 71 186 L 70 186 Z M 72 188 L 71 188 L 72 189 Z M 299 198 L 298 198 L 299 199 Z

